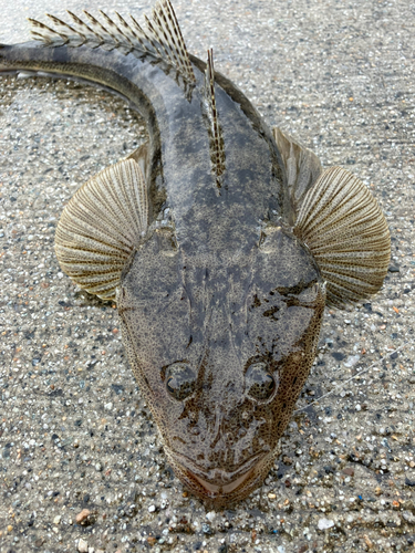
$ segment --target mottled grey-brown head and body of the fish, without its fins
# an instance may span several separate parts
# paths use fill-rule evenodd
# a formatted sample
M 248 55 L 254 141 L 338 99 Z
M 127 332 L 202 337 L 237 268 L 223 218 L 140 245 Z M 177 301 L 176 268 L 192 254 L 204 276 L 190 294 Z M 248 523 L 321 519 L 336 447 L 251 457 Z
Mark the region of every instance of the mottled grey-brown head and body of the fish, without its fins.
M 218 179 L 206 64 L 190 62 L 195 83 L 185 91 L 151 55 L 0 46 L 0 71 L 105 85 L 146 119 L 148 230 L 117 290 L 123 343 L 176 474 L 219 508 L 246 498 L 273 463 L 315 356 L 325 282 L 293 232 L 286 166 L 271 131 L 215 73 L 225 145 Z M 162 227 L 160 212 L 168 213 Z

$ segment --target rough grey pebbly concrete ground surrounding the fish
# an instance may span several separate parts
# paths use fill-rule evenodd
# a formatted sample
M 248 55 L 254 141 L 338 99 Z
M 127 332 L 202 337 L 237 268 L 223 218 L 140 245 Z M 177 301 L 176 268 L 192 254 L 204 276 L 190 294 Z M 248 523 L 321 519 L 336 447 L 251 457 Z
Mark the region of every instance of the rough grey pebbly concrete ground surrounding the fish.
M 141 18 L 152 7 L 54 4 L 2 2 L 0 42 L 27 40 L 25 17 L 46 11 Z M 214 46 L 216 69 L 269 125 L 371 188 L 391 269 L 371 302 L 326 310 L 262 489 L 210 511 L 166 463 L 116 310 L 76 290 L 53 253 L 65 202 L 145 139 L 144 123 L 93 87 L 0 77 L 0 552 L 414 551 L 415 4 L 174 6 L 189 51 Z

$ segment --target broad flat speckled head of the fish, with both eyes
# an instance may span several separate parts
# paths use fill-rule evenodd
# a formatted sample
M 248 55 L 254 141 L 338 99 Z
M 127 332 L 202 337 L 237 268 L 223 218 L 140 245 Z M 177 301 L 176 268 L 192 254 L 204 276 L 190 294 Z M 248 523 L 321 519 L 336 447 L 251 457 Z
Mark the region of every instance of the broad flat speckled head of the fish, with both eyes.
M 154 234 L 117 296 L 123 342 L 176 474 L 221 507 L 271 468 L 325 303 L 312 255 L 270 228 L 249 251 L 189 258 Z

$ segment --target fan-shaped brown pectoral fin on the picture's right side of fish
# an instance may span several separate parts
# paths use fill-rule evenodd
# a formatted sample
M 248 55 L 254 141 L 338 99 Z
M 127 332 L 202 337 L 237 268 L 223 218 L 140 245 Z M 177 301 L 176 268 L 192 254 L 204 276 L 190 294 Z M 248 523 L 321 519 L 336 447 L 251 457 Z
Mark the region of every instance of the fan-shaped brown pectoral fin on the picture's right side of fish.
M 344 307 L 381 289 L 390 231 L 376 199 L 350 171 L 332 167 L 320 175 L 301 202 L 294 233 L 326 281 L 329 305 Z

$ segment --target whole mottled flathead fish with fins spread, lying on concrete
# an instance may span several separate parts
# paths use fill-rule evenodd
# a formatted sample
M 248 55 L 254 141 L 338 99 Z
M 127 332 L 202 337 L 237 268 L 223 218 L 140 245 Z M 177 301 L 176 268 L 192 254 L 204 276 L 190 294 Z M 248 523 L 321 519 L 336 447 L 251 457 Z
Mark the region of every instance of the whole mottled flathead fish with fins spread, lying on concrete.
M 116 91 L 145 117 L 148 145 L 76 192 L 56 254 L 82 288 L 116 296 L 168 460 L 221 507 L 272 466 L 326 301 L 342 306 L 382 284 L 387 227 L 351 174 L 323 171 L 269 129 L 214 71 L 211 53 L 207 64 L 187 54 L 169 2 L 144 35 L 122 18 L 114 31 L 106 18 L 108 39 L 89 20 L 74 19 L 72 38 L 35 22 L 46 46 L 0 45 L 0 72 L 73 75 Z

